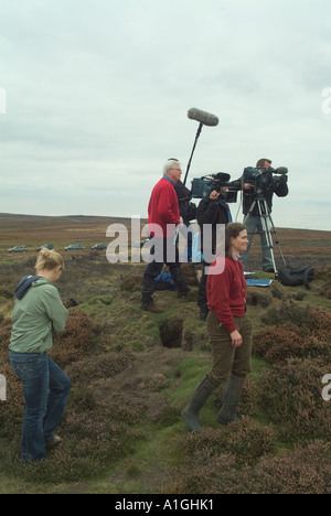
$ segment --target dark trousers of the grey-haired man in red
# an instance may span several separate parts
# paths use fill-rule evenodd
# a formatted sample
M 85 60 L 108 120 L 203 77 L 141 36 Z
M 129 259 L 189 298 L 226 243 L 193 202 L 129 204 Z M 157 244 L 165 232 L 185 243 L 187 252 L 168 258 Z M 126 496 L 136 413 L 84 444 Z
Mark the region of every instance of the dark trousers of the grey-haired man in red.
M 177 290 L 179 292 L 188 292 L 189 288 L 185 283 L 183 271 L 179 261 L 179 250 L 174 240 L 174 236 L 170 238 L 154 238 L 156 247 L 162 252 L 157 252 L 156 248 L 151 248 L 151 256 L 154 256 L 153 261 L 148 264 L 142 278 L 141 302 L 151 304 L 153 302 L 152 294 L 156 290 L 156 278 L 161 272 L 163 265 L 169 267 Z M 159 256 L 160 255 L 160 256 Z

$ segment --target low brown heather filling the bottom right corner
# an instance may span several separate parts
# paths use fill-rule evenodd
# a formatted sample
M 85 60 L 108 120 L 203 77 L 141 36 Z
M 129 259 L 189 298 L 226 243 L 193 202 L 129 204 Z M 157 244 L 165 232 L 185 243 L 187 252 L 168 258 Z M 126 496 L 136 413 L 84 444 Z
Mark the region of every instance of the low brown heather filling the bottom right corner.
M 322 441 L 239 467 L 223 453 L 181 470 L 169 487 L 173 494 L 330 494 L 330 459 L 331 444 Z

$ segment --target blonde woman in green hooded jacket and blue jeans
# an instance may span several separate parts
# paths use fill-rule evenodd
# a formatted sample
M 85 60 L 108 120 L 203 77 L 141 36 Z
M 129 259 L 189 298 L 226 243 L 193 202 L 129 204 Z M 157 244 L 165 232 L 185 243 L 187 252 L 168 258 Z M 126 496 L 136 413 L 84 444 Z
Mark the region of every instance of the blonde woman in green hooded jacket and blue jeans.
M 71 380 L 49 357 L 53 329 L 62 332 L 68 311 L 54 282 L 63 271 L 63 258 L 43 248 L 36 276 L 25 276 L 15 289 L 10 364 L 22 383 L 25 415 L 22 429 L 23 462 L 45 460 L 45 448 L 60 444 L 54 434 L 67 402 Z

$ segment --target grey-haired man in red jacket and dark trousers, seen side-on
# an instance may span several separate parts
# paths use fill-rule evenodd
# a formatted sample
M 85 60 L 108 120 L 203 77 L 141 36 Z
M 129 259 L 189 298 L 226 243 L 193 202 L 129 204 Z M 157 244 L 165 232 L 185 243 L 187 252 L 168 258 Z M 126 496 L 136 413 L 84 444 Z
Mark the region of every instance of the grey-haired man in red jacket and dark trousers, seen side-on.
M 169 267 L 178 297 L 184 298 L 190 291 L 180 267 L 175 241 L 180 212 L 174 185 L 180 181 L 181 175 L 180 162 L 169 159 L 163 165 L 163 178 L 153 187 L 148 205 L 148 229 L 152 237 L 154 257 L 143 273 L 140 308 L 153 313 L 163 312 L 152 299 L 156 290 L 154 280 L 161 272 L 163 264 Z

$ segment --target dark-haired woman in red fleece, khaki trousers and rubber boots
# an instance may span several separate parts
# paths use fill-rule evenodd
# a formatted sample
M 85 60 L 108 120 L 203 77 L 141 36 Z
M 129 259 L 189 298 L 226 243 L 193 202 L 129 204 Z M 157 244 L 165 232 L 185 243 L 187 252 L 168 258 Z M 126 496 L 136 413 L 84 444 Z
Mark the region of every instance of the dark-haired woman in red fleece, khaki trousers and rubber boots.
M 213 367 L 196 387 L 190 405 L 182 411 L 188 430 L 199 432 L 199 412 L 211 394 L 226 383 L 223 406 L 217 421 L 228 424 L 238 421 L 236 408 L 243 386 L 250 373 L 252 322 L 246 313 L 246 280 L 239 261 L 247 249 L 247 232 L 243 224 L 231 223 L 225 229 L 225 259 L 220 256 L 214 266 L 222 270 L 209 275 L 207 330 L 213 354 Z

